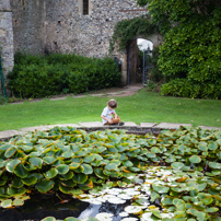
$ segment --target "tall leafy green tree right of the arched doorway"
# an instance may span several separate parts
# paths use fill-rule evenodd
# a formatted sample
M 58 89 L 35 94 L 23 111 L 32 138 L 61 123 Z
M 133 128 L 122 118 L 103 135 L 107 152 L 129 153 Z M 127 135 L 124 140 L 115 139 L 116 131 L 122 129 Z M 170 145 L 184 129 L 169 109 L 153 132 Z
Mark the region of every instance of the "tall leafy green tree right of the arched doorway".
M 138 0 L 138 3 L 149 3 L 151 20 L 164 34 L 159 57 L 159 67 L 163 74 L 173 79 L 186 78 L 188 83 L 199 85 L 198 90 L 203 93 L 200 96 L 196 92 L 195 97 L 220 97 L 221 94 L 217 93 L 212 96 L 211 89 L 220 86 L 221 78 L 220 1 Z M 209 84 L 207 90 L 206 84 Z M 171 86 L 166 84 L 164 90 L 167 85 Z M 205 94 L 206 91 L 208 94 Z

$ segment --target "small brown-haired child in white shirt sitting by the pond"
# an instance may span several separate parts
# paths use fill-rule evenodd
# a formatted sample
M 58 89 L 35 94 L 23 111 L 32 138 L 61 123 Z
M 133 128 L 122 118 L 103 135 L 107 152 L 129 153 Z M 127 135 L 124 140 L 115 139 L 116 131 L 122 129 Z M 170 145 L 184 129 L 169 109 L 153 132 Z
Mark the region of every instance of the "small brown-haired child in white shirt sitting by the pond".
M 117 108 L 117 102 L 109 100 L 101 115 L 104 125 L 124 125 L 124 123 L 120 123 L 120 118 L 117 116 L 115 108 Z

